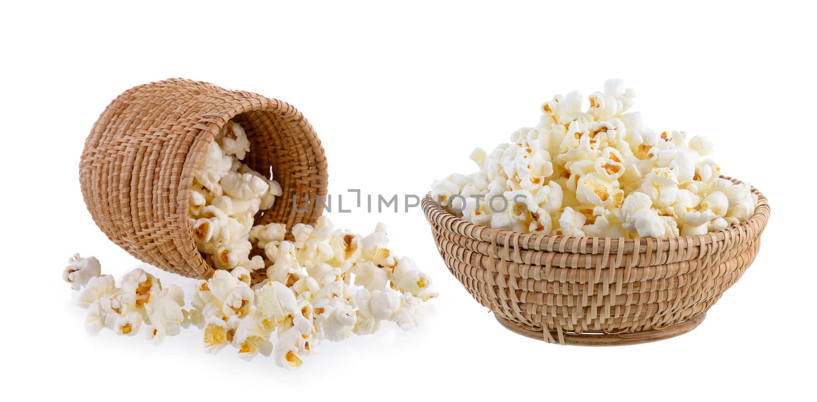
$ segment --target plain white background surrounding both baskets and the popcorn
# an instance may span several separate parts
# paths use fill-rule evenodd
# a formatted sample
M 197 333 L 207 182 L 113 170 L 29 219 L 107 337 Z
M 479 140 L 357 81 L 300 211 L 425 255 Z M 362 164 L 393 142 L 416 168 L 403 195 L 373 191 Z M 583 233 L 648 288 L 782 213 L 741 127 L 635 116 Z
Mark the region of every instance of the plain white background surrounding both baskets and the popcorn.
M 813 8 L 294 3 L 3 6 L 4 399 L 813 397 Z M 91 337 L 61 282 L 65 260 L 95 255 L 117 277 L 140 263 L 85 208 L 83 141 L 120 92 L 170 77 L 295 105 L 324 143 L 332 194 L 425 194 L 435 178 L 471 172 L 475 146 L 535 124 L 555 93 L 624 78 L 650 127 L 710 136 L 723 172 L 768 196 L 771 221 L 757 260 L 699 328 L 640 346 L 548 345 L 500 327 L 449 275 L 420 208 L 330 214 L 359 232 L 386 221 L 397 251 L 432 275 L 441 297 L 417 331 L 390 324 L 324 342 L 294 372 L 229 348 L 206 355 L 198 330 L 162 346 Z

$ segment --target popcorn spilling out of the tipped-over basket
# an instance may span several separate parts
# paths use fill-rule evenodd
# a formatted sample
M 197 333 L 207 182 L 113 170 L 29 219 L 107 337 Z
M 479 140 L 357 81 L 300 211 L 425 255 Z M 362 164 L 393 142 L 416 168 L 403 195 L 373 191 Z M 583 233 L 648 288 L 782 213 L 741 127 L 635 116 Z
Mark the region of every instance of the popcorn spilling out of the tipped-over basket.
M 208 352 L 231 345 L 244 359 L 274 355 L 291 369 L 323 340 L 375 333 L 384 320 L 415 327 L 421 303 L 436 293 L 412 259 L 391 251 L 385 226 L 361 236 L 321 217 L 315 226 L 293 226 L 290 241 L 283 224 L 254 225 L 257 213 L 282 192 L 241 163 L 248 151 L 246 133 L 230 122 L 208 145 L 194 176 L 194 238 L 218 269 L 193 294 L 163 287 L 141 269 L 117 286 L 111 275 L 101 275 L 95 257 L 69 260 L 63 278 L 87 309 L 87 328 L 131 336 L 142 330 L 160 343 L 193 324 L 203 328 Z M 251 257 L 253 250 L 263 256 Z M 266 270 L 266 279 L 252 285 L 252 272 L 259 270 Z

